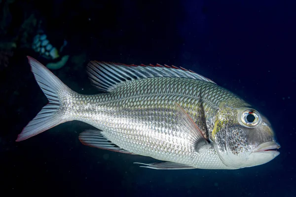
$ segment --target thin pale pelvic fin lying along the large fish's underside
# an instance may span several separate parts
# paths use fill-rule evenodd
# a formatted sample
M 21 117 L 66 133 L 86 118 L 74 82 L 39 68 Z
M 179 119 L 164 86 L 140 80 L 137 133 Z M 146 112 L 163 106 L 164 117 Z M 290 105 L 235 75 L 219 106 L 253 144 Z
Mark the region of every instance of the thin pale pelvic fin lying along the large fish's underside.
M 162 162 L 162 163 L 151 163 L 151 164 L 143 164 L 143 163 L 134 163 L 134 164 L 142 164 L 151 169 L 195 169 L 196 167 L 185 165 L 185 164 L 177 164 L 173 162 Z

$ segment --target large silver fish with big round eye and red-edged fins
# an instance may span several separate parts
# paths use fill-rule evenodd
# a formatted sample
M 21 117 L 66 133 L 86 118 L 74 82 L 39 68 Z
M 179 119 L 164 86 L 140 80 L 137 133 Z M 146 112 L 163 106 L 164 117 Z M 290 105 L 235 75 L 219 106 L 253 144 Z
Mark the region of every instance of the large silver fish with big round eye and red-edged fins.
M 194 71 L 90 61 L 87 73 L 100 93 L 82 95 L 36 59 L 28 62 L 49 102 L 16 141 L 76 120 L 95 128 L 79 134 L 82 144 L 159 160 L 134 163 L 151 169 L 239 169 L 280 154 L 256 107 Z

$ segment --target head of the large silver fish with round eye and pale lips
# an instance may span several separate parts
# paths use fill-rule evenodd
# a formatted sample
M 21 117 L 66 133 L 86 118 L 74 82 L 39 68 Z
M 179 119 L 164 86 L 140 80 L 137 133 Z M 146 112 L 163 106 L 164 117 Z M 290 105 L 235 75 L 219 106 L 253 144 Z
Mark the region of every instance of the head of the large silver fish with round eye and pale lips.
M 265 164 L 280 153 L 266 117 L 250 107 L 225 110 L 215 124 L 214 146 L 223 164 L 233 168 Z

